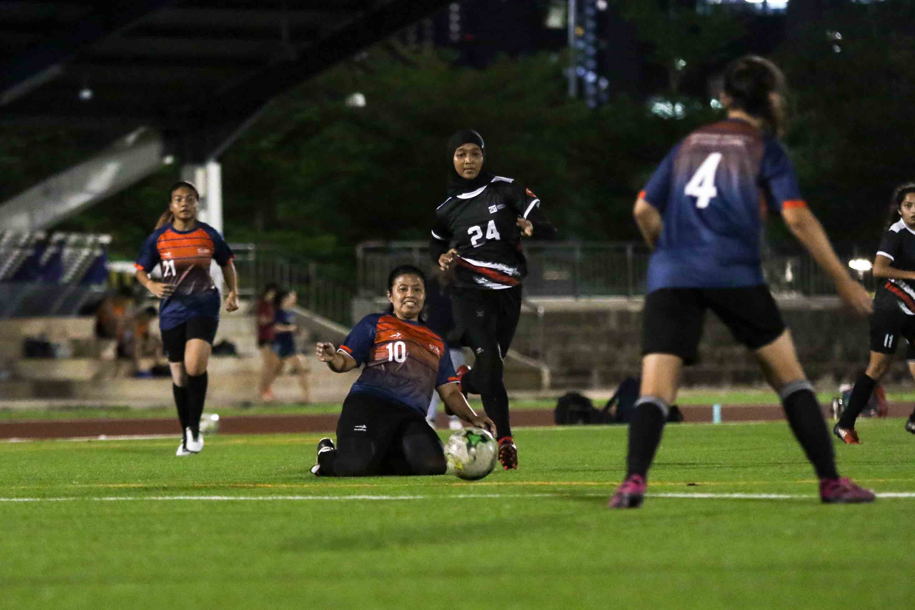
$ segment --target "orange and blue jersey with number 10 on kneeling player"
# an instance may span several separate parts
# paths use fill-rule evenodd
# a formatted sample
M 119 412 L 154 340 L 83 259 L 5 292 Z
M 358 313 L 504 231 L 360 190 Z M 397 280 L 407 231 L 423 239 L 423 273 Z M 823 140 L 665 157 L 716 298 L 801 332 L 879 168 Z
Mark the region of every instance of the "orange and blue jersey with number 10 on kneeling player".
M 458 382 L 442 338 L 420 322 L 393 314 L 363 317 L 338 351 L 365 365 L 350 394 L 374 394 L 423 415 L 437 387 Z

